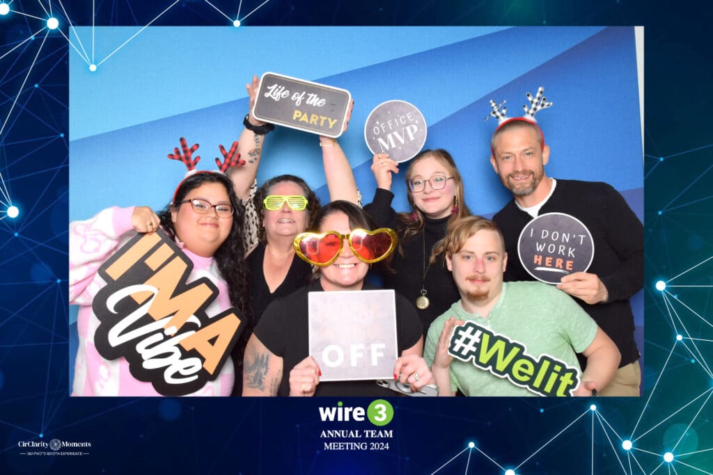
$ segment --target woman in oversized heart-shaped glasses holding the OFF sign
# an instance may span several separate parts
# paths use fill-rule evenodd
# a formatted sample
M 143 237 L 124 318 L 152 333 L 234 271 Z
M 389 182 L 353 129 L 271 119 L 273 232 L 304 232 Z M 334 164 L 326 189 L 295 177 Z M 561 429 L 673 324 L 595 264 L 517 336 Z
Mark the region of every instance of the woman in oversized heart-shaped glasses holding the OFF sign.
M 244 396 L 393 396 L 371 380 L 319 382 L 322 373 L 309 355 L 308 294 L 362 291 L 372 263 L 384 261 L 396 248 L 396 233 L 376 229 L 355 204 L 335 201 L 319 210 L 314 231 L 294 238 L 297 255 L 319 272 L 309 286 L 270 303 L 245 350 Z M 366 323 L 365 323 L 366 324 Z M 399 357 L 394 377 L 420 389 L 431 382 L 421 357 L 423 336 L 416 310 L 396 294 L 396 340 Z

